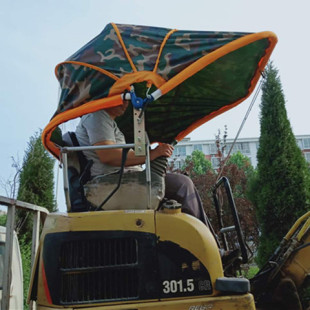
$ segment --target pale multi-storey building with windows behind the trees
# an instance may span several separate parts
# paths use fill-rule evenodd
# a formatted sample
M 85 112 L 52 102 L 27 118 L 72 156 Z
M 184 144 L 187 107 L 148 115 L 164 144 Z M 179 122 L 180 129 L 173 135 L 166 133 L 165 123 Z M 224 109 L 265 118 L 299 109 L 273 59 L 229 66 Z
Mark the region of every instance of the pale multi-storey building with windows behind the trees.
M 295 136 L 300 149 L 302 150 L 307 162 L 310 163 L 310 135 Z M 234 139 L 226 139 L 226 148 L 224 155 L 227 156 Z M 235 142 L 231 154 L 240 151 L 247 156 L 253 167 L 257 166 L 257 150 L 259 148 L 259 138 L 239 138 Z M 191 141 L 190 138 L 184 138 L 174 148 L 173 155 L 169 162 L 174 162 L 174 168 L 179 169 L 185 163 L 186 156 L 192 154 L 193 151 L 202 151 L 206 158 L 211 161 L 213 168 L 218 168 L 218 151 L 215 139 L 214 140 L 197 140 Z

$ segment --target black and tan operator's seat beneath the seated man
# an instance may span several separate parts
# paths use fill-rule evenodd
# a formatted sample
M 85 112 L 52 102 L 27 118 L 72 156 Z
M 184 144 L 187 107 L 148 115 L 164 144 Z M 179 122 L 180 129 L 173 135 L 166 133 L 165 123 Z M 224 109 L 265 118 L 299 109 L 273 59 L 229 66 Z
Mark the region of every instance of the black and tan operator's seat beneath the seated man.
M 66 146 L 79 146 L 74 132 L 63 135 Z M 120 173 L 91 178 L 88 161 L 82 151 L 68 153 L 68 178 L 71 208 L 68 212 L 89 210 L 157 209 L 164 198 L 167 160 L 159 158 L 151 162 L 151 197 L 148 205 L 146 174 L 130 171 L 121 175 L 120 187 L 113 195 Z M 102 205 L 106 198 L 111 197 Z

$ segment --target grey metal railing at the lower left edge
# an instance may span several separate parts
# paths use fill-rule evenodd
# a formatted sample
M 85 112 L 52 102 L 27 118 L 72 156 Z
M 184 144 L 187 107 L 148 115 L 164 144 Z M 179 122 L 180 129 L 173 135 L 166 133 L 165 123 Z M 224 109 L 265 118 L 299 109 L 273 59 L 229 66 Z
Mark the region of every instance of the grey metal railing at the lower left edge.
M 46 215 L 49 213 L 47 209 L 36 206 L 30 203 L 0 196 L 0 205 L 7 207 L 6 219 L 6 237 L 5 237 L 5 253 L 4 253 L 4 272 L 3 272 L 3 289 L 1 309 L 10 308 L 10 288 L 11 288 L 11 266 L 12 266 L 12 252 L 13 252 L 13 237 L 15 226 L 15 211 L 22 209 L 33 213 L 33 228 L 32 228 L 32 247 L 31 247 L 31 268 L 33 267 L 39 244 L 39 229 L 40 220 L 44 221 Z M 30 309 L 34 309 L 30 305 Z

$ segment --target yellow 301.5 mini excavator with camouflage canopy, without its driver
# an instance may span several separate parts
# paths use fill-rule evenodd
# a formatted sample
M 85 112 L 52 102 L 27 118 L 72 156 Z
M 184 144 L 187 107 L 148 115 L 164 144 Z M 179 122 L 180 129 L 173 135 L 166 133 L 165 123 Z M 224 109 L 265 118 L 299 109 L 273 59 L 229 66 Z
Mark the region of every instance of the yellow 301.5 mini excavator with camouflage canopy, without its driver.
M 167 159 L 154 143 L 176 144 L 248 98 L 277 43 L 259 33 L 189 31 L 108 24 L 55 72 L 59 104 L 42 133 L 62 166 L 66 213 L 46 216 L 28 299 L 37 309 L 302 309 L 310 272 L 310 212 L 297 219 L 251 280 L 238 270 L 249 247 L 229 180 L 213 189 L 219 231 L 165 198 Z M 61 126 L 131 102 L 116 119 L 126 144 L 80 146 Z M 119 172 L 93 178 L 83 151 L 123 149 Z M 126 150 L 146 156 L 124 172 Z M 222 221 L 219 191 L 232 223 Z M 234 236 L 234 237 L 232 237 Z M 233 242 L 230 242 L 233 240 Z M 224 260 L 221 250 L 231 253 Z

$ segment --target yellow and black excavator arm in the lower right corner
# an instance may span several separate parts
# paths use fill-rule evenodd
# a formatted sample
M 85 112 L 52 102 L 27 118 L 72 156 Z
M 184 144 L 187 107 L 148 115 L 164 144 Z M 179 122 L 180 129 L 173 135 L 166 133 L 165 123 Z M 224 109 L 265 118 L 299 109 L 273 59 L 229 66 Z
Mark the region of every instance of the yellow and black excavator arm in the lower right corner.
M 308 290 L 308 300 L 300 297 Z M 261 309 L 310 309 L 310 212 L 300 217 L 251 280 Z

